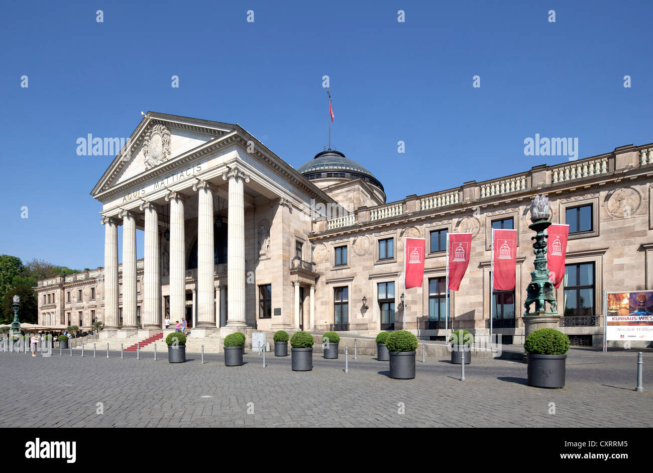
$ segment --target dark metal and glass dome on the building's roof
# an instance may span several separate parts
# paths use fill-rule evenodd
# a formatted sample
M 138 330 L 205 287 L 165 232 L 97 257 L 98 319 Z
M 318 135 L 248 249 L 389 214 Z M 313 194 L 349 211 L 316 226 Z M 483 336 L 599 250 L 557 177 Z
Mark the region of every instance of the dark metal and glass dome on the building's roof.
M 381 182 L 374 177 L 372 172 L 336 150 L 319 152 L 311 161 L 298 167 L 297 171 L 308 180 L 321 178 L 362 179 L 383 191 Z

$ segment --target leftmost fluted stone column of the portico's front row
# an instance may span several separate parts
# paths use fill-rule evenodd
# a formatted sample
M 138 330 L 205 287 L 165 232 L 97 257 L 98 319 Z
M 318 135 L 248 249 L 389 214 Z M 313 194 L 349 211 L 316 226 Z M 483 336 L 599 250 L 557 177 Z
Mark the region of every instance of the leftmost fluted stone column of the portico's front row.
M 104 330 L 118 330 L 118 221 L 103 217 L 104 225 Z

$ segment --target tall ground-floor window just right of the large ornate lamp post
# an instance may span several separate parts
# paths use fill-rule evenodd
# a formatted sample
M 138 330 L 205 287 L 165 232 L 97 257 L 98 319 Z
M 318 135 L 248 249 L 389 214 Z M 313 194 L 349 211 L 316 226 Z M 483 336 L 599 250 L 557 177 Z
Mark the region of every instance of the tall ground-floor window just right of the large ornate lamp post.
M 565 316 L 594 316 L 594 263 L 565 265 Z

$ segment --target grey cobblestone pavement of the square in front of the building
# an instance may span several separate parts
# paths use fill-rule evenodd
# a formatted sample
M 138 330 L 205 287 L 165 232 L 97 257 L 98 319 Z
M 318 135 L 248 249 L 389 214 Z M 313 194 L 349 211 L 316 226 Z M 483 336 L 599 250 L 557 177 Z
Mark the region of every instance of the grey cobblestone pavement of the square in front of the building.
M 460 382 L 460 365 L 444 359 L 392 380 L 388 362 L 370 356 L 350 355 L 345 374 L 342 354 L 313 355 L 310 372 L 271 353 L 266 368 L 255 352 L 242 367 L 225 367 L 222 354 L 204 365 L 199 354 L 178 364 L 166 352 L 80 354 L 0 353 L 0 427 L 653 427 L 650 351 L 643 393 L 632 350 L 569 351 L 564 389 L 528 387 L 526 365 L 501 359 L 473 359 Z

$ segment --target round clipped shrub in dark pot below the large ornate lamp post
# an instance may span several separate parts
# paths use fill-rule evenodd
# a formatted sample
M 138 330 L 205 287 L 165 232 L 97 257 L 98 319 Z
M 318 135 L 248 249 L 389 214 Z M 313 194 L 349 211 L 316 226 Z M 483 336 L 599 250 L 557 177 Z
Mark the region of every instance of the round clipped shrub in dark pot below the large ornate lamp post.
M 569 337 L 556 329 L 537 329 L 524 341 L 528 351 L 528 385 L 564 387 Z

